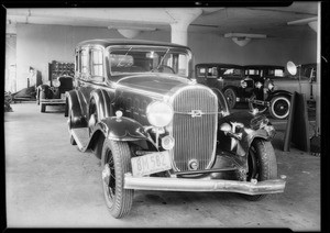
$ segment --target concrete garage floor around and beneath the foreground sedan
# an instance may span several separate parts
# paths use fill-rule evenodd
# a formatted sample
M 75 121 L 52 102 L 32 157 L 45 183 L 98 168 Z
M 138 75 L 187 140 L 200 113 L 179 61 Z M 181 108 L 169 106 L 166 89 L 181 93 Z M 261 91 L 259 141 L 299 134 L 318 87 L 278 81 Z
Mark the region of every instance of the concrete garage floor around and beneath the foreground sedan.
M 284 193 L 249 202 L 235 193 L 135 191 L 131 213 L 109 214 L 100 160 L 69 144 L 61 107 L 32 102 L 4 114 L 8 228 L 289 228 L 320 230 L 320 157 L 283 152 L 285 121 L 273 141 Z

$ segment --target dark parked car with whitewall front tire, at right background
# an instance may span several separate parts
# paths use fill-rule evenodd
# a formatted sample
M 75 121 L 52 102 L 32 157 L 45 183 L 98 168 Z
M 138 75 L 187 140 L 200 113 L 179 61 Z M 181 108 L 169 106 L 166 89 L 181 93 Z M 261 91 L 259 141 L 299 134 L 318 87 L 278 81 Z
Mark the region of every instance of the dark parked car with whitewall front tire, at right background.
M 256 108 L 260 112 L 268 110 L 274 119 L 286 119 L 288 116 L 290 98 L 295 91 L 305 93 L 306 97 L 311 95 L 311 78 L 301 74 L 300 76 L 298 74 L 292 76 L 286 73 L 284 66 L 245 66 L 245 75 L 248 77 L 260 77 L 263 87 L 254 89 L 249 102 L 250 109 Z

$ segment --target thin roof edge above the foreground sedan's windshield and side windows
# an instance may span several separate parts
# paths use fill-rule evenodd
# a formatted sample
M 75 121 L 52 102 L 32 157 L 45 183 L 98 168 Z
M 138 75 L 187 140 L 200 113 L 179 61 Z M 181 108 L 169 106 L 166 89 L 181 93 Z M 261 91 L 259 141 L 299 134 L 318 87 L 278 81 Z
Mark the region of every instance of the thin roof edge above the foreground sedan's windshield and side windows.
M 168 42 L 158 42 L 158 41 L 146 41 L 146 40 L 130 40 L 130 38 L 96 38 L 82 41 L 77 44 L 77 47 L 84 45 L 101 45 L 108 47 L 110 45 L 152 45 L 152 46 L 172 46 L 190 49 L 187 46 L 168 43 Z

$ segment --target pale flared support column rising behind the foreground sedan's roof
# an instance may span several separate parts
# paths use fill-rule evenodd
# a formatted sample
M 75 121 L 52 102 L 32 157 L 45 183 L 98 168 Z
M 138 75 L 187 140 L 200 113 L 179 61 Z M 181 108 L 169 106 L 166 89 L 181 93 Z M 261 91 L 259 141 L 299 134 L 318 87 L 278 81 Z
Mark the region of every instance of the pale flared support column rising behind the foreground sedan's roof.
M 201 13 L 201 9 L 167 9 L 167 14 L 173 19 L 170 23 L 170 42 L 188 45 L 188 26 Z

